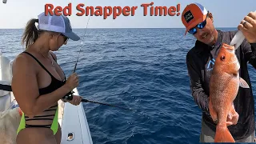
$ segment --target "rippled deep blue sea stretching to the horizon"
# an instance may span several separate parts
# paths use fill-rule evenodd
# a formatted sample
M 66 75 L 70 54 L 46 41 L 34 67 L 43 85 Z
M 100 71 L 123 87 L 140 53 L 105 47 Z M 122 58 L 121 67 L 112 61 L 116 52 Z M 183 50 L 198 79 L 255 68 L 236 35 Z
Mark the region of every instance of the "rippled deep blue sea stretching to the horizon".
M 236 30 L 220 28 L 219 30 Z M 81 37 L 85 29 L 75 29 Z M 0 30 L 0 50 L 11 60 L 21 53 L 23 30 Z M 194 46 L 185 29 L 87 29 L 84 41 L 69 40 L 56 51 L 68 77 L 77 73 L 95 144 L 198 143 L 202 112 L 190 92 L 186 53 Z M 249 65 L 252 85 L 254 68 Z M 255 94 L 255 87 L 253 87 Z

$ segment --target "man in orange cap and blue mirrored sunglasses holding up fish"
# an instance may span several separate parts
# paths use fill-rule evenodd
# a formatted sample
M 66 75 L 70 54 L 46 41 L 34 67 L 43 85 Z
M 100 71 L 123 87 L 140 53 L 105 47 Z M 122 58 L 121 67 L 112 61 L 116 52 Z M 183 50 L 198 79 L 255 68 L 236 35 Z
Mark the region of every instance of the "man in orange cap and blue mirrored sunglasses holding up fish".
M 254 96 L 247 70 L 247 62 L 256 68 L 256 14 L 250 13 L 238 26 L 246 36 L 246 40 L 238 47 L 235 54 L 240 62 L 240 77 L 246 80 L 250 89 L 239 87 L 234 100 L 237 114 L 230 114 L 227 122 L 235 142 L 254 142 Z M 246 21 L 245 21 L 246 20 Z M 214 28 L 213 14 L 198 3 L 191 3 L 182 12 L 182 23 L 186 33 L 193 34 L 197 41 L 186 55 L 187 70 L 190 77 L 190 89 L 197 105 L 202 109 L 202 131 L 200 142 L 214 142 L 216 123 L 210 117 L 209 83 L 211 70 L 222 43 L 230 44 L 237 31 L 223 32 Z M 243 24 L 243 25 L 242 25 Z M 251 33 L 250 31 L 254 31 Z M 185 33 L 185 34 L 186 34 Z M 238 123 L 236 120 L 238 119 Z

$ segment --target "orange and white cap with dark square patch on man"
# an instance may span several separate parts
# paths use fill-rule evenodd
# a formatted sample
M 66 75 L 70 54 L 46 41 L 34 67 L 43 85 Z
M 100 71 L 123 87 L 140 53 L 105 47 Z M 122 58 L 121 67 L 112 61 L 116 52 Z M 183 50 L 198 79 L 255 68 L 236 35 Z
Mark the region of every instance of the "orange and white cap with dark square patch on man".
M 194 2 L 187 5 L 182 12 L 182 23 L 186 26 L 186 32 L 206 19 L 207 10 L 201 4 Z

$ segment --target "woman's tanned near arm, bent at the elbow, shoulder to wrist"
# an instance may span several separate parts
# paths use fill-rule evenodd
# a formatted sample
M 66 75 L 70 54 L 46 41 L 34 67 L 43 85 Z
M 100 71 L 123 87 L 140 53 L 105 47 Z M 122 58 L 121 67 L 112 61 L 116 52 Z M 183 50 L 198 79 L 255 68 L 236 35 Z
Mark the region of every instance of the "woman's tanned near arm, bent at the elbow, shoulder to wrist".
M 46 110 L 58 102 L 70 90 L 66 84 L 54 90 L 50 94 L 43 94 L 39 97 L 37 74 L 30 60 L 20 54 L 13 63 L 12 90 L 18 105 L 29 117 Z

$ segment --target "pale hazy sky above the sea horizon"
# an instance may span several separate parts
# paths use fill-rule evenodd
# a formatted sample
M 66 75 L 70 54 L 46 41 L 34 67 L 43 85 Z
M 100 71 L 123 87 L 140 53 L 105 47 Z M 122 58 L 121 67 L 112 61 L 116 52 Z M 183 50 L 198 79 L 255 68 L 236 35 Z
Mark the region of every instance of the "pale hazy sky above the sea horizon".
M 2 0 L 1 0 L 2 1 Z M 143 15 L 142 4 L 154 2 L 153 6 L 177 7 L 180 4 L 180 15 L 150 16 Z M 46 4 L 56 6 L 68 6 L 72 4 L 70 18 L 73 28 L 85 28 L 89 16 L 86 14 L 77 16 L 78 4 L 86 6 L 138 6 L 134 16 L 123 16 L 122 14 L 113 19 L 111 14 L 106 19 L 103 16 L 91 16 L 88 28 L 184 28 L 181 21 L 182 10 L 186 5 L 198 2 L 206 7 L 214 16 L 214 26 L 216 27 L 237 27 L 241 20 L 256 10 L 255 0 L 7 0 L 6 4 L 0 3 L 0 29 L 23 29 L 30 18 L 37 18 L 38 14 L 45 11 Z

